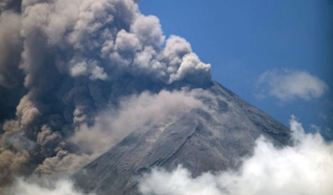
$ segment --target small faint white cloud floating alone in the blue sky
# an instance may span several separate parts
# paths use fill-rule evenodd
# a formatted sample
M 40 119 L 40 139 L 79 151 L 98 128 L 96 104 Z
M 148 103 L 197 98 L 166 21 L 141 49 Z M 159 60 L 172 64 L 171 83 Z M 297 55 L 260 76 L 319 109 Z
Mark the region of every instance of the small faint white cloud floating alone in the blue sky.
M 263 88 L 258 97 L 268 94 L 282 101 L 295 98 L 310 100 L 322 97 L 328 90 L 323 80 L 305 71 L 267 71 L 260 75 L 258 84 Z

